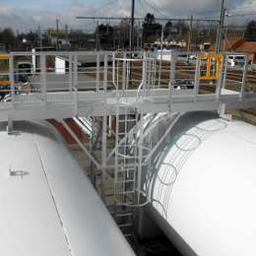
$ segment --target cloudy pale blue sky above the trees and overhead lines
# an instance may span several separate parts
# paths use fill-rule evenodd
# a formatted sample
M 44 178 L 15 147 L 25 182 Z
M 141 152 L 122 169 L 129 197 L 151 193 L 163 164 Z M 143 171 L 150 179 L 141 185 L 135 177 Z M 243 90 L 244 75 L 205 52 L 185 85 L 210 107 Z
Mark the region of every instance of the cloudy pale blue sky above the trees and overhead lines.
M 233 13 L 256 13 L 256 0 L 224 1 L 225 7 Z M 11 27 L 20 31 L 35 30 L 38 26 L 53 28 L 59 19 L 63 27 L 67 24 L 72 29 L 94 30 L 94 22 L 88 25 L 85 21 L 78 21 L 76 16 L 127 17 L 130 5 L 131 0 L 0 0 L 0 28 Z M 213 11 L 220 10 L 220 6 L 221 0 L 136 0 L 136 16 L 143 17 L 150 12 L 157 17 L 203 15 L 208 18 L 219 15 Z

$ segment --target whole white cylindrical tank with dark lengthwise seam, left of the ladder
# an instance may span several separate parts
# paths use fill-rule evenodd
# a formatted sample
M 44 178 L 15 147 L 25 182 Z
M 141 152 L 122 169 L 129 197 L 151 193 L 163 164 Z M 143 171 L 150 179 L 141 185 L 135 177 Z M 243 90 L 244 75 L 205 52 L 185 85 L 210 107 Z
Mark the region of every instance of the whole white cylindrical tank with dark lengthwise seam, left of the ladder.
M 0 255 L 135 255 L 50 124 L 3 126 L 0 141 Z

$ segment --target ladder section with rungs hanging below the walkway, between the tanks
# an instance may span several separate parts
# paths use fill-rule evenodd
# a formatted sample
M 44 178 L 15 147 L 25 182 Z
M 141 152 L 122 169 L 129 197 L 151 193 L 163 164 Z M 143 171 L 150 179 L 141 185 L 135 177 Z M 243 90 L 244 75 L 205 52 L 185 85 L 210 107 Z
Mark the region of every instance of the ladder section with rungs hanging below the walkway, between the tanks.
M 122 115 L 120 115 L 122 113 Z M 134 206 L 136 202 L 139 115 L 128 115 L 127 104 L 118 104 L 116 113 L 116 154 L 114 175 L 115 218 L 128 238 L 134 237 Z

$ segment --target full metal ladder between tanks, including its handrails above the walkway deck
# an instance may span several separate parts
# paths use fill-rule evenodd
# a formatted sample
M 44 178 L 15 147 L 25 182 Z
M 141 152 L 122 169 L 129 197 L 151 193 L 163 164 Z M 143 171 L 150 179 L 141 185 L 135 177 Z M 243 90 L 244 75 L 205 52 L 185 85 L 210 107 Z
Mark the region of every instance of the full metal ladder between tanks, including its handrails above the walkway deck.
M 120 81 L 122 90 L 118 92 L 118 83 L 116 90 L 115 220 L 124 235 L 132 239 L 135 237 L 137 209 L 145 205 L 145 202 L 141 202 L 144 116 L 138 111 L 140 94 L 138 93 L 137 99 L 139 100 L 136 99 L 134 104 L 129 102 L 127 95 L 127 89 L 132 83 L 130 81 L 132 63 L 124 60 L 122 64 L 122 81 Z M 147 69 L 146 60 L 144 60 L 143 68 Z M 147 80 L 145 76 L 150 76 L 149 74 L 151 73 L 144 72 L 144 81 Z M 138 92 L 145 91 L 144 86 L 145 84 L 141 83 Z M 130 114 L 131 112 L 133 114 Z

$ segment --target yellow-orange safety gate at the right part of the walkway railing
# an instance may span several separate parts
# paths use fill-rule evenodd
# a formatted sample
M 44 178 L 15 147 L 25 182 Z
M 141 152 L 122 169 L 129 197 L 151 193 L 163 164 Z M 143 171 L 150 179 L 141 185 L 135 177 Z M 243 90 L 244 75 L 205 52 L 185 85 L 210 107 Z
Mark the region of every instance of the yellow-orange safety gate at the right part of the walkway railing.
M 201 80 L 218 80 L 221 77 L 221 70 L 223 65 L 224 56 L 222 54 L 207 54 L 201 55 L 201 63 L 203 60 L 207 61 L 206 70 L 202 74 L 200 67 L 200 77 Z

